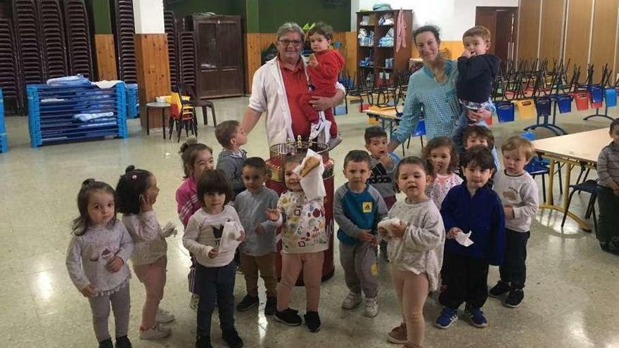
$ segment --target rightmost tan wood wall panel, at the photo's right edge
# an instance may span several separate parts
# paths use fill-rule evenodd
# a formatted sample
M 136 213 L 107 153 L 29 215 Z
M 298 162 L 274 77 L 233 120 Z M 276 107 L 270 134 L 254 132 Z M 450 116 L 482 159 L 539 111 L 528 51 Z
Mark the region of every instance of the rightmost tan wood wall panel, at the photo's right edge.
M 619 0 L 595 0 L 591 61 L 594 65 L 594 82 L 601 79 L 604 65 L 613 69 L 615 62 L 615 41 L 617 34 L 617 11 Z M 614 77 L 611 83 L 615 83 Z

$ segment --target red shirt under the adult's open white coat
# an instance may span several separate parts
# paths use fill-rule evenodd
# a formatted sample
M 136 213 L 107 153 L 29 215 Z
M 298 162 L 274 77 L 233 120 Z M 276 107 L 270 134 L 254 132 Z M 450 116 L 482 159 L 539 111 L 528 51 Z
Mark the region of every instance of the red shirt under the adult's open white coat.
M 283 88 L 286 89 L 288 107 L 291 111 L 291 124 L 293 128 L 293 134 L 295 134 L 295 136 L 300 135 L 304 140 L 307 140 L 310 132 L 310 124 L 307 121 L 305 114 L 301 110 L 301 104 L 299 101 L 300 96 L 306 94 L 307 91 L 309 91 L 307 87 L 307 77 L 305 76 L 305 70 L 303 69 L 302 59 L 299 59 L 297 65 L 293 67 L 293 70 L 284 67 L 280 60 L 279 68 L 281 70 L 281 77 L 283 79 Z

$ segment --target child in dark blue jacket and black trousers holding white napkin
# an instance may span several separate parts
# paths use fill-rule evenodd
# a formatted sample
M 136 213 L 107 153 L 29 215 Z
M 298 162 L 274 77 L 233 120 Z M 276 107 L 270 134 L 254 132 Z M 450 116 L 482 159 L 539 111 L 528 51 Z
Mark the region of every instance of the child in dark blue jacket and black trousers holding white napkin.
M 440 210 L 447 231 L 443 264 L 447 288 L 439 296 L 445 307 L 436 319 L 438 328 L 457 321 L 462 302 L 473 326 L 487 326 L 481 308 L 488 297 L 488 265 L 501 264 L 505 250 L 503 205 L 487 185 L 494 172 L 492 153 L 485 146 L 473 146 L 461 163 L 466 180 L 447 193 Z M 471 233 L 473 243 L 462 240 L 462 233 Z

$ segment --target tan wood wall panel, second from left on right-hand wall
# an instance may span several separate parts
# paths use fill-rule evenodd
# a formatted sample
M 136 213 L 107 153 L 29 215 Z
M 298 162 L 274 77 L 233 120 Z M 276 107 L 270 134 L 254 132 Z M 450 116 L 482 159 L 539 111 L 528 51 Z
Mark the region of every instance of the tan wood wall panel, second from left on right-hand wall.
M 565 22 L 566 0 L 546 0 L 542 3 L 542 33 L 540 37 L 540 59 L 548 59 L 549 64 L 561 57 L 563 22 Z M 550 65 L 552 66 L 552 65 Z

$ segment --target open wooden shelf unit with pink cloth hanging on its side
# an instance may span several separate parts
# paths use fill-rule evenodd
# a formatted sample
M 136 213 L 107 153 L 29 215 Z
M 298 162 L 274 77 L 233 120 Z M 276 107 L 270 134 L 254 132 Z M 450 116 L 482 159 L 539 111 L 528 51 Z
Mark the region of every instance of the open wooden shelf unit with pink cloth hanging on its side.
M 406 47 L 396 49 L 397 20 L 404 16 L 406 24 Z M 388 20 L 385 21 L 385 18 Z M 369 80 L 374 84 L 393 82 L 395 72 L 408 70 L 411 58 L 412 40 L 412 10 L 361 11 L 357 12 L 357 34 L 363 30 L 373 33 L 371 39 L 357 39 L 357 81 Z M 391 30 L 391 31 L 390 31 Z M 388 33 L 393 32 L 393 42 L 381 41 Z

